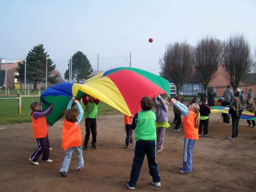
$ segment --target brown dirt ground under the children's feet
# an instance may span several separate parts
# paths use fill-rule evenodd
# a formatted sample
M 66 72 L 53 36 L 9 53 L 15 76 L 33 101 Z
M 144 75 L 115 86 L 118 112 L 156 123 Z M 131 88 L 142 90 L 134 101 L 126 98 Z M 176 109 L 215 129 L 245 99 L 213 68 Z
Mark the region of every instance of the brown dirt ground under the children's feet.
M 168 119 L 164 150 L 157 154 L 161 187 L 150 184 L 146 157 L 136 191 L 256 191 L 256 129 L 240 120 L 237 140 L 229 140 L 231 124 L 221 124 L 220 113 L 209 117 L 208 137 L 200 137 L 193 153 L 193 171 L 180 174 L 184 131 L 174 131 L 173 106 Z M 220 123 L 217 123 L 220 121 Z M 97 149 L 83 151 L 83 171 L 76 171 L 76 152 L 68 177 L 58 174 L 65 152 L 61 148 L 62 122 L 49 127 L 50 158 L 53 162 L 32 164 L 28 159 L 37 148 L 30 123 L 0 126 L 0 191 L 127 191 L 134 145 L 125 148 L 123 115 L 97 118 Z M 84 118 L 81 122 L 85 134 Z M 134 138 L 134 134 L 133 134 Z M 90 141 L 91 142 L 91 136 Z

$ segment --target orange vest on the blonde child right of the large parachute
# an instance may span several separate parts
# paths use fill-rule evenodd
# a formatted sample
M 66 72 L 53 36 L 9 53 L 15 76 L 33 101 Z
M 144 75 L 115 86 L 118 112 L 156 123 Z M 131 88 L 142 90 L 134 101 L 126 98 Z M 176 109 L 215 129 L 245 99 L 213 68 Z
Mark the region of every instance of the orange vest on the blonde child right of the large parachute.
M 188 116 L 183 118 L 183 127 L 185 132 L 185 137 L 188 139 L 199 139 L 198 127 L 195 127 L 197 114 L 193 111 L 188 111 Z

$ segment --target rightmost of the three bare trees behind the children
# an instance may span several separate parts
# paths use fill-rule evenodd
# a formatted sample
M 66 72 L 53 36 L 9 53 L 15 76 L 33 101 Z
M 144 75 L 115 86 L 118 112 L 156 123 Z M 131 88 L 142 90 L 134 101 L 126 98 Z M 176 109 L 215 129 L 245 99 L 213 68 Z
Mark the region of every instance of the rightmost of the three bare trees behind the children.
M 240 81 L 247 76 L 252 67 L 252 55 L 249 42 L 242 35 L 230 35 L 224 43 L 223 63 L 230 80 L 236 90 Z

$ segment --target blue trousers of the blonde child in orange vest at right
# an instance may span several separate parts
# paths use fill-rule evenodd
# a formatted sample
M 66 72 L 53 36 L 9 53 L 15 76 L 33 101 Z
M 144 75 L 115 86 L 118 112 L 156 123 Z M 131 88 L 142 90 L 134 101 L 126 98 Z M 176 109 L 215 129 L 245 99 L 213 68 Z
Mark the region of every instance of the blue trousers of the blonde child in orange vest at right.
M 196 140 L 185 138 L 184 140 L 184 155 L 182 171 L 192 171 L 192 155 Z

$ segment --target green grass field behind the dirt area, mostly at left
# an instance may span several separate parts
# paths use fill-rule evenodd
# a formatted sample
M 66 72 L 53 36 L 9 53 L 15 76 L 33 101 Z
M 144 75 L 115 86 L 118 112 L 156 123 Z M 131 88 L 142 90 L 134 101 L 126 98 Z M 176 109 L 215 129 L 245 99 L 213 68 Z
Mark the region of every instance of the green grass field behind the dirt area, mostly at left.
M 12 96 L 3 96 L 3 90 L 0 91 L 0 125 L 7 124 L 17 124 L 17 123 L 26 123 L 31 122 L 31 109 L 30 104 L 34 101 L 39 102 L 39 97 L 33 97 L 33 95 L 38 94 L 38 91 L 30 92 L 31 97 L 22 97 L 22 113 L 18 114 L 18 100 L 17 91 L 12 92 Z M 11 94 L 11 93 L 10 93 Z M 16 96 L 15 96 L 16 95 Z M 5 100 L 2 100 L 4 99 Z M 10 99 L 15 98 L 15 99 Z M 192 97 L 186 97 L 185 100 L 191 100 Z M 84 108 L 84 105 L 82 104 Z M 98 105 L 98 114 L 99 115 L 109 115 L 109 114 L 120 113 L 113 107 L 100 102 Z

